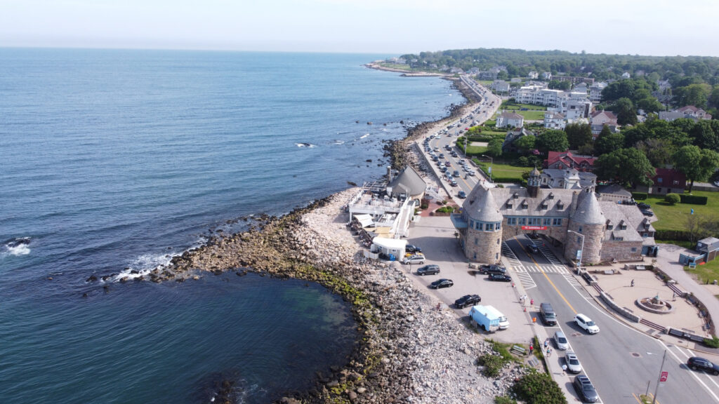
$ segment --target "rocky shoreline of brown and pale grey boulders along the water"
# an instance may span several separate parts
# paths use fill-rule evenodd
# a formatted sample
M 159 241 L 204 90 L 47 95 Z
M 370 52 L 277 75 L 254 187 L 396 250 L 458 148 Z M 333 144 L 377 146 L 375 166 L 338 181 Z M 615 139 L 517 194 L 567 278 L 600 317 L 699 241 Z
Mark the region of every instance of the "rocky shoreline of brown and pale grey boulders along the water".
M 412 142 L 470 107 L 453 106 L 449 117 L 419 124 L 388 144 L 393 166 L 418 165 Z M 493 403 L 523 369 L 508 369 L 498 380 L 483 377 L 475 362 L 492 352 L 490 345 L 452 310 L 437 310 L 438 302 L 413 288 L 401 265 L 365 259 L 344 209 L 357 190 L 285 216 L 262 217 L 248 231 L 216 234 L 145 280 L 183 282 L 208 273 L 254 271 L 320 283 L 351 303 L 360 340 L 346 367 L 316 375 L 313 389 L 286 392 L 281 403 Z M 233 402 L 229 393 L 217 398 Z

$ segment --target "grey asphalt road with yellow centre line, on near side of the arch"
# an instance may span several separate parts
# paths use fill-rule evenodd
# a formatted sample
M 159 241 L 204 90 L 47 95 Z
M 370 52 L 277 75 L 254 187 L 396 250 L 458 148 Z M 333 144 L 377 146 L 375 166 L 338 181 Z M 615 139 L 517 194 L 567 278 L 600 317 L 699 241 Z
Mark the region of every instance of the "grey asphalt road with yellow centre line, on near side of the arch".
M 657 400 L 660 404 L 719 403 L 718 385 L 711 383 L 713 380 L 707 379 L 708 375 L 686 368 L 686 352 L 618 321 L 595 304 L 569 270 L 558 270 L 549 249 L 540 254 L 529 254 L 526 249 L 529 242 L 531 240 L 526 237 L 515 237 L 506 244 L 514 256 L 510 260 L 512 271 L 516 267 L 518 273 L 531 278 L 528 283 L 531 288 L 527 292 L 529 298 L 534 299 L 531 315 L 539 319 L 539 303 L 551 303 L 557 312 L 558 324 L 556 327 L 546 326 L 546 334 L 551 336 L 556 329 L 564 331 L 603 403 L 638 403 L 637 398 L 646 392 L 648 382 L 651 382 L 650 392 L 654 392 L 665 350 L 669 350 L 664 364 L 669 379 L 659 388 Z M 537 244 L 541 244 L 541 240 Z M 524 284 L 525 280 L 522 282 Z M 592 318 L 600 327 L 600 332 L 589 335 L 580 329 L 574 323 L 577 313 Z M 556 361 L 555 368 L 561 368 L 564 364 L 562 357 L 563 352 L 555 350 L 549 360 Z M 571 385 L 564 387 L 570 394 L 575 394 Z

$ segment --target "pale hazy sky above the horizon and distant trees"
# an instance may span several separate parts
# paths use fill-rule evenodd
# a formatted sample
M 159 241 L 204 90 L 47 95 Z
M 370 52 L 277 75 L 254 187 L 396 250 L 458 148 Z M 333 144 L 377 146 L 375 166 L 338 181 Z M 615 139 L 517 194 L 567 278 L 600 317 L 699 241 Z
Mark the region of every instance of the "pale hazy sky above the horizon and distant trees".
M 0 0 L 0 47 L 719 56 L 718 0 Z

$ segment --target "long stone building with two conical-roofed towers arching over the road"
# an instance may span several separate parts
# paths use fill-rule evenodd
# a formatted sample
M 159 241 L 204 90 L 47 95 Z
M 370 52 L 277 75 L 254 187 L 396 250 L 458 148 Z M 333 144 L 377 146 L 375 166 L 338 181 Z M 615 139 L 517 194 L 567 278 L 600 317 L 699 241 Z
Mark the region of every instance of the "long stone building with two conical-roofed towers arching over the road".
M 526 188 L 478 183 L 452 215 L 465 257 L 485 263 L 499 262 L 502 243 L 527 233 L 562 247 L 567 260 L 580 254 L 587 264 L 639 260 L 656 249 L 651 220 L 636 206 L 600 201 L 590 188 L 541 188 L 536 168 Z

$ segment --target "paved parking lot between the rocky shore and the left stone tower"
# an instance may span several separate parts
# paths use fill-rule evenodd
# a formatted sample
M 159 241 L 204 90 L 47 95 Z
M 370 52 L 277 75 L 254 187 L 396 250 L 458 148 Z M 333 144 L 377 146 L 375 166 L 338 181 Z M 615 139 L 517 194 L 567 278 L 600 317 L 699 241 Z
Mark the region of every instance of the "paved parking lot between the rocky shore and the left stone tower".
M 454 300 L 463 295 L 477 294 L 482 298 L 482 305 L 490 305 L 497 308 L 507 316 L 509 329 L 497 331 L 491 334 L 492 339 L 503 342 L 528 344 L 533 336 L 528 313 L 523 311 L 519 303 L 519 295 L 513 283 L 491 282 L 486 275 L 479 275 L 475 270 L 470 269 L 467 259 L 462 254 L 457 237 L 454 236 L 452 221 L 446 216 L 427 216 L 421 221 L 412 224 L 411 237 L 408 237 L 408 244 L 414 244 L 422 248 L 426 257 L 424 265 L 439 265 L 439 275 L 418 276 L 416 271 L 422 265 L 403 265 L 407 272 L 412 272 L 411 279 L 416 288 L 429 290 L 429 293 L 436 296 L 441 303 L 444 303 L 448 310 L 454 310 L 457 316 L 466 318 L 470 308 L 455 309 Z M 516 274 L 508 272 L 514 279 Z M 475 275 L 476 274 L 476 275 Z M 449 278 L 454 281 L 452 288 L 439 290 L 429 289 L 429 284 L 440 278 Z M 483 331 L 482 331 L 483 332 Z

